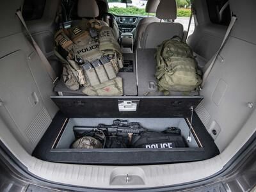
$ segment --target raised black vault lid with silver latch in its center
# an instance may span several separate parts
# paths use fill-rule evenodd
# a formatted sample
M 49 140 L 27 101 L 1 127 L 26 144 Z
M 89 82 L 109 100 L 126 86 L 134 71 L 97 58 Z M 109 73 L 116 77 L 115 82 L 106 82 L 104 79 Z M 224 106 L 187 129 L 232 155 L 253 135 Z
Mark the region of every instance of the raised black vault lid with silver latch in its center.
M 60 111 L 69 118 L 157 118 L 186 117 L 191 115 L 204 97 L 138 96 L 138 97 L 88 97 L 52 96 Z

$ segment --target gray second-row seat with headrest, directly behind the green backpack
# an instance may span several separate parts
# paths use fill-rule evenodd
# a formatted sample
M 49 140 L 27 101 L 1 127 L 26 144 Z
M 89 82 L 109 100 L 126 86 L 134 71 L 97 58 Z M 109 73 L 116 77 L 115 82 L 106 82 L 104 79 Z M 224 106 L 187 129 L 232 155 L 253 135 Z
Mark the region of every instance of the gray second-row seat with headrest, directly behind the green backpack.
M 177 18 L 177 4 L 175 0 L 161 0 L 156 10 L 156 17 L 161 22 L 148 24 L 141 39 L 141 48 L 156 48 L 164 40 L 173 36 L 183 37 L 182 24 L 175 22 L 162 22 L 163 19 L 175 20 Z

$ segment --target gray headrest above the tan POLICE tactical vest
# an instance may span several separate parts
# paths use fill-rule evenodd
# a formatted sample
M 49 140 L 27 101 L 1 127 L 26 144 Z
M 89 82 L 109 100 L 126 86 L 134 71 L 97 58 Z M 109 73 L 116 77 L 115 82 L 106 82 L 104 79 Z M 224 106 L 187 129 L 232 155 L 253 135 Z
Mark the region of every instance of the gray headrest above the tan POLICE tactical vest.
M 95 0 L 78 0 L 77 1 L 78 17 L 98 17 L 99 7 Z

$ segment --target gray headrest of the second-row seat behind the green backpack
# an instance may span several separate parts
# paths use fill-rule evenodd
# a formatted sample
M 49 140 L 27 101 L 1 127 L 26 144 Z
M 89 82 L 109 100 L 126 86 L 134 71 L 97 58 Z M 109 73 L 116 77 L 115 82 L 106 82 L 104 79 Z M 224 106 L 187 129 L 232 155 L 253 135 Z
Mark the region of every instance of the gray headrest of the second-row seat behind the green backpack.
M 161 0 L 156 10 L 159 19 L 176 19 L 177 4 L 175 0 Z

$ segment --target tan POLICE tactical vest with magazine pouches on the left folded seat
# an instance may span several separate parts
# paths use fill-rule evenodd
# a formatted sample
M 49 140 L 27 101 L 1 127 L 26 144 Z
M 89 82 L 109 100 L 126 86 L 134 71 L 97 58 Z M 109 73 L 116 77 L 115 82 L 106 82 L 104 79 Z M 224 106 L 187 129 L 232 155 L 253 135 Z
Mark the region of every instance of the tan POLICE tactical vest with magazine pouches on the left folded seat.
M 55 41 L 68 55 L 63 62 L 68 88 L 77 90 L 80 84 L 86 95 L 122 95 L 122 78 L 116 77 L 123 67 L 122 52 L 113 29 L 101 26 L 99 20 L 82 20 L 73 28 L 58 31 Z M 56 56 L 65 60 L 58 52 Z

